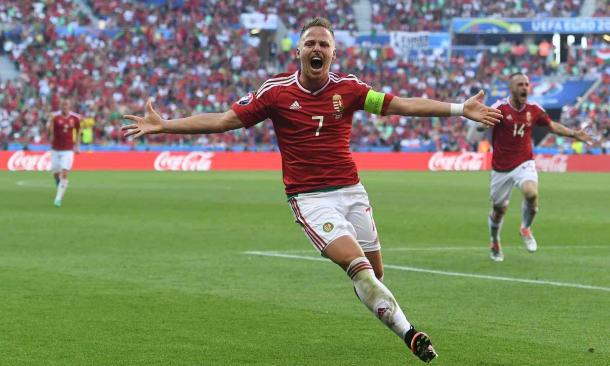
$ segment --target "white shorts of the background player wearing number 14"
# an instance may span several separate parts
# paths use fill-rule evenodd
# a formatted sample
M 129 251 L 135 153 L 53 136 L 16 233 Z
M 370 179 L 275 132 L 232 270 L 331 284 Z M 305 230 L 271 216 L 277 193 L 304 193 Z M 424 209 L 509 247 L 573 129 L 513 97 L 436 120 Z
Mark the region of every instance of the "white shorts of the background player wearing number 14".
M 494 206 L 507 207 L 513 187 L 521 189 L 523 182 L 533 181 L 538 183 L 538 172 L 536 162 L 528 160 L 517 166 L 510 172 L 491 171 L 491 202 Z

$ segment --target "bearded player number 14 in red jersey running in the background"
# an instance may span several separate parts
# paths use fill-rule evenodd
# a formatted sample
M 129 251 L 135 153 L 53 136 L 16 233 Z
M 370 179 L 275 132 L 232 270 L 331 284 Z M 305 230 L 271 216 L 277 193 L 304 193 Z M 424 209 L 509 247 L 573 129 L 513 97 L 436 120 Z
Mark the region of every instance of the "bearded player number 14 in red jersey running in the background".
M 538 173 L 532 153 L 532 129 L 535 124 L 546 126 L 557 135 L 591 142 L 583 130 L 575 131 L 553 122 L 544 109 L 536 103 L 528 103 L 529 78 L 521 73 L 509 79 L 510 97 L 499 100 L 492 107 L 502 111 L 502 120 L 492 131 L 492 210 L 488 217 L 491 234 L 490 257 L 495 262 L 504 260 L 500 244 L 500 229 L 508 208 L 513 186 L 523 194 L 522 221 L 519 233 L 525 248 L 533 253 L 538 248 L 532 234 L 532 221 L 538 211 Z

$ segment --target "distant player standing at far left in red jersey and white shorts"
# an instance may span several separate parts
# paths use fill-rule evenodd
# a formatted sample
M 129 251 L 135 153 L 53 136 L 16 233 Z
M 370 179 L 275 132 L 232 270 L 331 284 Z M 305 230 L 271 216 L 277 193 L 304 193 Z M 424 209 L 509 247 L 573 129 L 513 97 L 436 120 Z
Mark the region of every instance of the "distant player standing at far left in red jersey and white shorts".
M 54 201 L 56 207 L 61 207 L 61 200 L 68 188 L 68 171 L 72 169 L 74 152 L 80 152 L 80 119 L 78 114 L 70 111 L 70 102 L 64 100 L 61 103 L 61 110 L 53 113 L 49 123 L 51 170 L 57 186 Z M 74 135 L 76 135 L 76 147 Z

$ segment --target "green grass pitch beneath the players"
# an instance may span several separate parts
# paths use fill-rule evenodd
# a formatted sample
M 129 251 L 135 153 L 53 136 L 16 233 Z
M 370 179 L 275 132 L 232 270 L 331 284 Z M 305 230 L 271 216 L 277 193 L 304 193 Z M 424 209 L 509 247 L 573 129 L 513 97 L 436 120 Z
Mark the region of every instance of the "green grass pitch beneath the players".
M 488 173 L 361 178 L 433 364 L 610 364 L 610 175 L 541 174 L 535 254 L 514 191 L 503 263 Z M 73 172 L 54 193 L 50 173 L 0 173 L 1 365 L 420 364 L 308 260 L 279 172 Z

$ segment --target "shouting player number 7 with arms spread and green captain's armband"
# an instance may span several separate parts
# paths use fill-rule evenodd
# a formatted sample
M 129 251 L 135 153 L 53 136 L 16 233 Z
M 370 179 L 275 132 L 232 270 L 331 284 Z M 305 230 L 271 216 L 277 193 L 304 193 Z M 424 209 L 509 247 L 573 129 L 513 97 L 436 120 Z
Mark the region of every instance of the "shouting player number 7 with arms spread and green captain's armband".
M 360 301 L 418 358 L 429 362 L 436 357 L 430 338 L 415 330 L 382 283 L 379 236 L 349 149 L 352 116 L 357 110 L 379 115 L 464 115 L 493 125 L 500 112 L 481 103 L 482 92 L 463 104 L 399 98 L 372 90 L 354 75 L 330 72 L 335 38 L 330 22 L 323 18 L 303 27 L 296 56 L 300 71 L 268 79 L 225 113 L 164 120 L 148 101 L 144 117 L 125 116 L 135 121 L 123 127 L 125 135 L 218 133 L 270 118 L 295 221 L 316 250 L 347 272 Z

